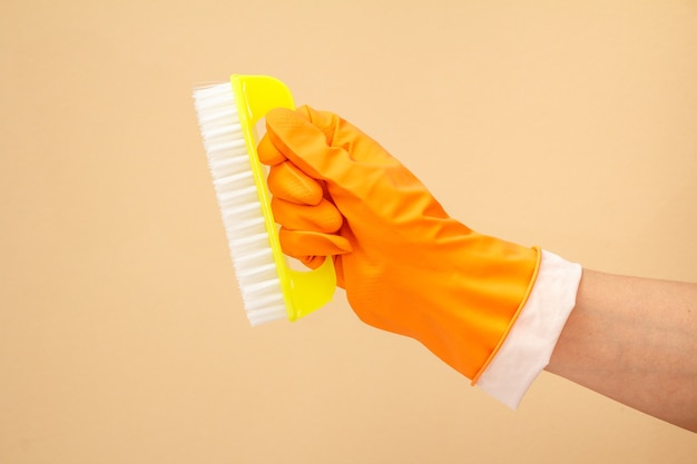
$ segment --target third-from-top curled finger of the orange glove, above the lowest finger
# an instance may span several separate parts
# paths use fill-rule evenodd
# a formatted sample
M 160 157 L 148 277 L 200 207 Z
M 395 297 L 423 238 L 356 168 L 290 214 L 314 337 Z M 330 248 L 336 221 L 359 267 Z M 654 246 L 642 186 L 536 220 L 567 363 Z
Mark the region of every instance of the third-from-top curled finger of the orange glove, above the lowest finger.
M 273 197 L 271 207 L 276 223 L 288 230 L 332 234 L 337 231 L 344 221 L 338 209 L 324 198 L 317 205 L 310 206 Z

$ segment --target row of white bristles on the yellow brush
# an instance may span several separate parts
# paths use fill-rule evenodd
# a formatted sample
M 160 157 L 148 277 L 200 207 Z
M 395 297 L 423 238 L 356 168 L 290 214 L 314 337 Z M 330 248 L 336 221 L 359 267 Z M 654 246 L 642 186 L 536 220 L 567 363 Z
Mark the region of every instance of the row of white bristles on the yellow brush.
M 213 185 L 249 323 L 286 317 L 230 82 L 194 91 Z

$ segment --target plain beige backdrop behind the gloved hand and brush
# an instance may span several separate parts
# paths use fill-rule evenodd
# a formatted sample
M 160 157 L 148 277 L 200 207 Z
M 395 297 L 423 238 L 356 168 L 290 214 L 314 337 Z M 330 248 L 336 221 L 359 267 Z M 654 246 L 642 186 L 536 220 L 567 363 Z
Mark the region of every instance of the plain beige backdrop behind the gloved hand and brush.
M 513 413 L 343 295 L 248 327 L 192 102 L 281 78 L 473 228 L 697 280 L 695 1 L 0 1 L 0 463 L 688 463 L 549 374 Z

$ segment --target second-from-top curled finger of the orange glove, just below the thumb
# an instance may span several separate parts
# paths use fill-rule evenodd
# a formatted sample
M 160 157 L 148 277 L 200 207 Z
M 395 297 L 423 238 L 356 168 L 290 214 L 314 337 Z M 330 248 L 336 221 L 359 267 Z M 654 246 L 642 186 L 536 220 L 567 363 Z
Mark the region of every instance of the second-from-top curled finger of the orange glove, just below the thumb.
M 298 205 L 317 205 L 322 200 L 322 185 L 289 161 L 272 166 L 266 179 L 271 192 Z

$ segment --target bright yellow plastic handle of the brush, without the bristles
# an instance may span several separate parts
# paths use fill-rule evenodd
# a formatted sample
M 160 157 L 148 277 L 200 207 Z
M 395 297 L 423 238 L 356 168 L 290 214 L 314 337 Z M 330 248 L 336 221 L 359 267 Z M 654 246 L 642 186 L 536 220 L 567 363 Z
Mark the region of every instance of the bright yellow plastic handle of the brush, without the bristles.
M 336 273 L 331 258 L 325 259 L 324 264 L 314 270 L 295 270 L 288 266 L 288 261 L 281 250 L 278 229 L 271 210 L 271 194 L 266 185 L 266 174 L 256 151 L 257 140 L 254 130 L 256 124 L 274 108 L 295 109 L 293 95 L 285 83 L 268 76 L 233 75 L 230 82 L 274 261 L 276 263 L 276 272 L 281 280 L 286 313 L 289 320 L 296 320 L 321 308 L 332 299 L 336 289 Z

